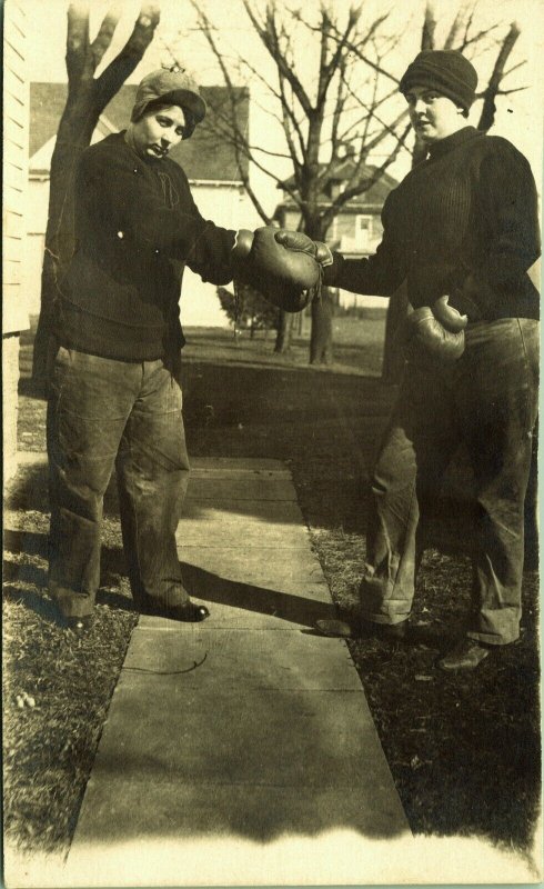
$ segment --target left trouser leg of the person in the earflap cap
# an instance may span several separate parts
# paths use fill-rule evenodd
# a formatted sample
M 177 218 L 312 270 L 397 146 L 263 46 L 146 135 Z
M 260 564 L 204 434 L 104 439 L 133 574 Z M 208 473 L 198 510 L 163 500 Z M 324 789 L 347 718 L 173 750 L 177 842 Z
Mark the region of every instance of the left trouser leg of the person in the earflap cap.
M 90 615 L 100 583 L 103 496 L 139 366 L 60 347 L 48 403 L 49 589 L 66 617 Z

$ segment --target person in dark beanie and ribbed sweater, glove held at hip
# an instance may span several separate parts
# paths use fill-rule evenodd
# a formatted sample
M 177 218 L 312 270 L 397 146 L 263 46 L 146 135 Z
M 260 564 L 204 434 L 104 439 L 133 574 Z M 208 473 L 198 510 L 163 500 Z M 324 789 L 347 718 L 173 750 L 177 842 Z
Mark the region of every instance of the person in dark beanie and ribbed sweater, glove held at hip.
M 320 629 L 410 637 L 420 505 L 464 442 L 477 500 L 475 536 L 466 541 L 473 607 L 464 637 L 439 660 L 450 671 L 473 669 L 518 638 L 537 410 L 538 293 L 527 274 L 540 256 L 536 189 L 514 146 L 466 126 L 476 84 L 476 71 L 457 52 L 415 58 L 400 89 L 427 158 L 387 197 L 375 254 L 334 253 L 324 270 L 325 283 L 355 293 L 390 296 L 405 281 L 414 312 L 404 379 L 371 481 L 360 622 L 321 621 Z M 298 233 L 276 238 L 303 247 Z

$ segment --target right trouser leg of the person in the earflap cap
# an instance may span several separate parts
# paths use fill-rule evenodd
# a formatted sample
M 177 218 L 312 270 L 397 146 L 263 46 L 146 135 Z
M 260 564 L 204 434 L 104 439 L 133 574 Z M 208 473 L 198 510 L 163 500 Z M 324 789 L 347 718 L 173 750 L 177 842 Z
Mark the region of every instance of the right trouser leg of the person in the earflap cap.
M 161 361 L 144 362 L 115 462 L 124 552 L 142 609 L 189 601 L 175 542 L 189 482 L 181 408 L 177 380 Z

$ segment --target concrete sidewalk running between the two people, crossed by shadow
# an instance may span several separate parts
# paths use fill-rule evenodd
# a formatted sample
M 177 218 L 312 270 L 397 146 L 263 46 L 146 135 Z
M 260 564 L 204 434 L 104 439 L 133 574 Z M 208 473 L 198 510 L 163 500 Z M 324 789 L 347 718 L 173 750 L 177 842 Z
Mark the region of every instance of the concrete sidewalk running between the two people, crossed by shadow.
M 194 461 L 179 545 L 211 618 L 140 619 L 66 885 L 365 882 L 359 845 L 409 828 L 347 647 L 312 630 L 332 605 L 290 473 Z

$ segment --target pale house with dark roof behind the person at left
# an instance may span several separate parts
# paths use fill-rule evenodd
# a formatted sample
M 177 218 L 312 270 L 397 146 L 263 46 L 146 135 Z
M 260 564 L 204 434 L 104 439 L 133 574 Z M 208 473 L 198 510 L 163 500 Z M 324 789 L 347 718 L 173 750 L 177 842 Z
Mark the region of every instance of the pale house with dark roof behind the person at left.
M 91 142 L 127 127 L 135 91 L 135 84 L 125 84 L 120 89 L 101 114 Z M 209 107 L 209 117 L 212 118 L 213 109 L 225 101 L 225 89 L 202 88 L 202 94 Z M 27 229 L 24 289 L 31 313 L 40 310 L 51 156 L 66 99 L 66 83 L 30 84 L 29 204 L 32 212 L 29 213 Z M 238 113 L 240 126 L 248 129 L 250 96 L 246 89 L 239 90 Z M 185 170 L 194 200 L 204 218 L 232 229 L 253 229 L 262 224 L 242 187 L 232 147 L 213 133 L 211 123 L 208 127 L 204 120 L 191 139 L 172 149 L 170 157 Z M 184 277 L 181 313 L 185 326 L 226 327 L 229 323 L 221 310 L 215 287 L 204 284 L 189 269 Z

